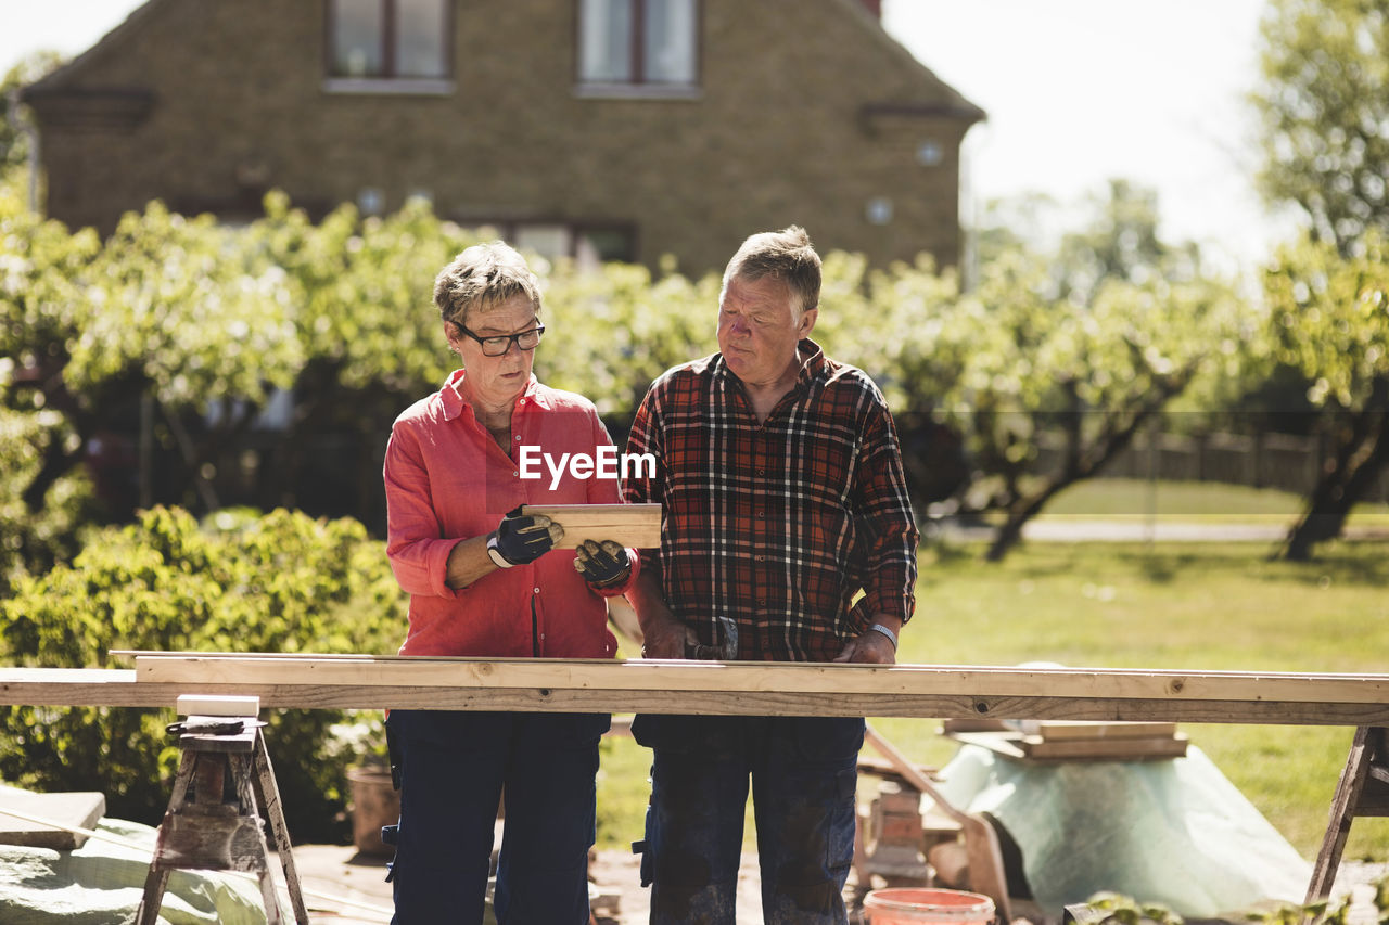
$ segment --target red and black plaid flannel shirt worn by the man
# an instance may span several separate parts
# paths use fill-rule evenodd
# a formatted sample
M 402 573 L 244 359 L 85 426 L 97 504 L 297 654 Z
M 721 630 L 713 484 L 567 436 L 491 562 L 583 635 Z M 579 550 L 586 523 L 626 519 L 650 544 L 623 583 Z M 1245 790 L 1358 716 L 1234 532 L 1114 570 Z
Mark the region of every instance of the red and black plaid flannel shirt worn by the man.
M 914 607 L 918 533 L 882 393 L 811 340 L 800 361 L 763 424 L 721 354 L 675 367 L 628 438 L 657 465 L 625 499 L 664 511 L 644 565 L 701 643 L 732 618 L 740 660 L 829 661 L 874 614 L 907 621 Z

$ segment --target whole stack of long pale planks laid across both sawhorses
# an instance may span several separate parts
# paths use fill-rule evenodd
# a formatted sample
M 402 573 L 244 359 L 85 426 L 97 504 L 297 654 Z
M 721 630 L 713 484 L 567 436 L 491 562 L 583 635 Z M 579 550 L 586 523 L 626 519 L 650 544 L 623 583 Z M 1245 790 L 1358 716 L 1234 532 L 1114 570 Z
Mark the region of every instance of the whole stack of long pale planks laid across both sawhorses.
M 0 668 L 0 704 L 172 707 L 193 693 L 258 696 L 271 708 L 1389 725 L 1386 675 L 1092 669 L 1085 683 L 1058 685 L 1061 669 L 1035 668 L 257 654 L 250 678 L 243 660 Z M 1174 692 L 1172 678 L 1186 683 Z

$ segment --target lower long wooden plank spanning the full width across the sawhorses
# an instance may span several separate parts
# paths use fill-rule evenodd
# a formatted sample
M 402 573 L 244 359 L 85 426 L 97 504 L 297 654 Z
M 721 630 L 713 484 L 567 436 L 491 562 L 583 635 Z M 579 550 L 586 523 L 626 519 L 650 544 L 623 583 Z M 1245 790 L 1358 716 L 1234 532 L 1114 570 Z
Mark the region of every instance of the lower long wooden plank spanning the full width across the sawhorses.
M 288 660 L 292 661 L 292 660 Z M 293 672 L 290 672 L 293 674 Z M 711 675 L 713 678 L 713 675 Z M 0 704 L 169 707 L 181 694 L 258 696 L 261 707 L 301 710 L 510 710 L 519 712 L 667 712 L 708 715 L 1090 719 L 1270 725 L 1389 725 L 1389 704 L 1278 700 L 993 697 L 611 688 L 489 688 L 138 681 L 133 669 L 0 668 Z

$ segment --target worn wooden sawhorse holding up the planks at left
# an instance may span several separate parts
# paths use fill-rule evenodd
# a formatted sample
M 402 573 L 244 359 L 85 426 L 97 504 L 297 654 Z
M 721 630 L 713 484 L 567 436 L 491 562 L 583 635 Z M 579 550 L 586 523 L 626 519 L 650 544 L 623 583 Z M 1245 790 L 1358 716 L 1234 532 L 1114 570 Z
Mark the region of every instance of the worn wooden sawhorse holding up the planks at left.
M 253 779 L 260 781 L 265 814 L 294 907 L 294 922 L 308 925 L 289 847 L 289 829 L 279 804 L 279 788 L 261 736 L 264 724 L 256 718 L 260 699 L 185 696 L 178 699 L 178 711 L 188 719 L 169 729 L 179 733 L 182 756 L 168 811 L 154 843 L 154 860 L 144 878 L 136 925 L 156 924 L 169 874 L 178 869 L 256 874 L 268 924 L 282 925 L 269 849 L 256 811 Z

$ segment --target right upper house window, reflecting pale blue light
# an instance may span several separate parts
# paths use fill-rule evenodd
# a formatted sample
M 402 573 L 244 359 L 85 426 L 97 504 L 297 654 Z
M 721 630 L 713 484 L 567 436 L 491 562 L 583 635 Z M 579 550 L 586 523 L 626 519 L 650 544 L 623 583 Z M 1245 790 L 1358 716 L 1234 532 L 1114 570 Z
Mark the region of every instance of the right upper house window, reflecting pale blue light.
M 579 0 L 579 85 L 699 85 L 699 0 Z

